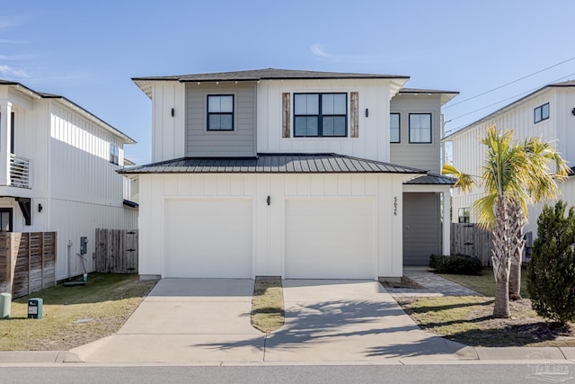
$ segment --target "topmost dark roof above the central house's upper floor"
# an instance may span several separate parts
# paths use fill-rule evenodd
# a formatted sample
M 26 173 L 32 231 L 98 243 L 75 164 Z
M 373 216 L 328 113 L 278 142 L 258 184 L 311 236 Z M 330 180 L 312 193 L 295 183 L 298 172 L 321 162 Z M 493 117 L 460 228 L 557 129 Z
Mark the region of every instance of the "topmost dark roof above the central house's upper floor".
M 279 80 L 279 79 L 375 79 L 375 78 L 410 78 L 410 76 L 403 75 L 378 75 L 378 74 L 357 74 L 357 73 L 341 73 L 341 72 L 317 72 L 305 71 L 294 69 L 253 69 L 247 71 L 234 71 L 234 72 L 215 72 L 208 74 L 193 74 L 193 75 L 176 75 L 176 76 L 150 76 L 150 77 L 133 77 L 133 81 L 137 80 L 164 80 L 164 81 L 180 81 L 180 82 L 194 82 L 194 81 L 258 81 L 258 80 Z

